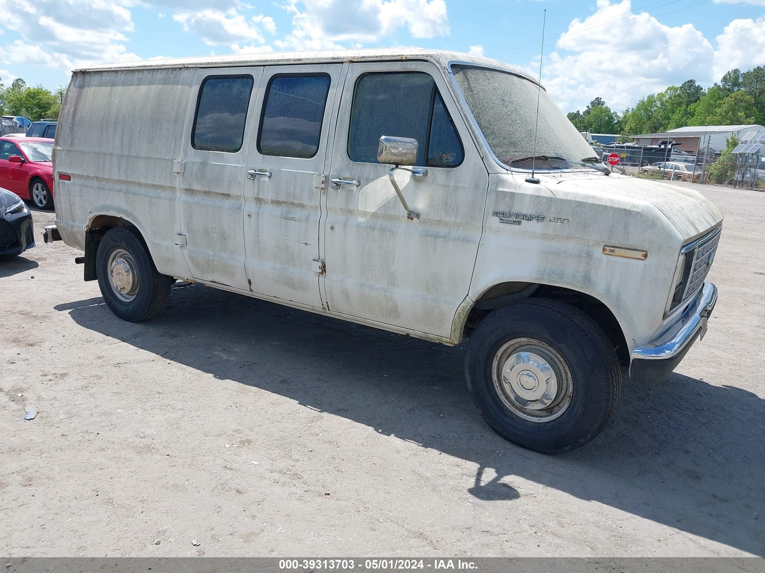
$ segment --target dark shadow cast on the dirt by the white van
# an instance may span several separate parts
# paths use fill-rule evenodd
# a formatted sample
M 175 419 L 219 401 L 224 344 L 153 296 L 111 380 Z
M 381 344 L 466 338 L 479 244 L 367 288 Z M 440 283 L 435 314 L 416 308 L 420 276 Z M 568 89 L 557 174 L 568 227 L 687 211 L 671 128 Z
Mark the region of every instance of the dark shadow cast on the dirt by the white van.
M 500 480 L 520 476 L 765 555 L 765 400 L 746 390 L 680 374 L 662 384 L 628 380 L 604 433 L 551 457 L 485 425 L 464 384 L 464 348 L 198 285 L 176 286 L 168 310 L 138 325 L 100 297 L 55 308 L 164 359 L 472 461 L 477 474 L 465 490 L 508 511 L 519 494 Z

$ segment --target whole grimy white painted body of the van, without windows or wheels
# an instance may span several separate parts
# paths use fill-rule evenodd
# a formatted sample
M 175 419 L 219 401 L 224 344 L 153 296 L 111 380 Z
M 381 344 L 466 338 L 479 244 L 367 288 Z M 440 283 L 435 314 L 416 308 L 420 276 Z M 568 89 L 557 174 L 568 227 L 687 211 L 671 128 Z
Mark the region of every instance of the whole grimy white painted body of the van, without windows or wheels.
M 55 173 L 72 176 L 56 181 L 61 235 L 82 249 L 93 218 L 117 215 L 142 232 L 164 274 L 448 344 L 460 341 L 472 301 L 506 281 L 594 296 L 617 317 L 630 351 L 654 338 L 666 324 L 679 250 L 721 221 L 718 210 L 692 190 L 595 171 L 539 173 L 541 183 L 526 183 L 526 173 L 506 170 L 484 147 L 446 73 L 450 60 L 528 78 L 494 60 L 437 50 L 246 54 L 77 71 L 54 151 Z M 311 159 L 262 156 L 256 145 L 265 86 L 290 70 L 331 78 Z M 347 155 L 355 80 L 384 70 L 431 74 L 464 145 L 459 167 L 397 174 L 422 213 L 413 221 L 389 166 Z M 254 79 L 242 149 L 194 150 L 200 83 L 239 73 Z M 174 173 L 174 161 L 183 173 Z M 249 169 L 272 177 L 248 180 Z M 322 174 L 361 184 L 320 189 Z M 509 225 L 495 210 L 545 220 Z M 185 246 L 176 234 L 186 235 Z M 607 257 L 605 244 L 649 256 Z M 325 261 L 326 274 L 314 259 Z

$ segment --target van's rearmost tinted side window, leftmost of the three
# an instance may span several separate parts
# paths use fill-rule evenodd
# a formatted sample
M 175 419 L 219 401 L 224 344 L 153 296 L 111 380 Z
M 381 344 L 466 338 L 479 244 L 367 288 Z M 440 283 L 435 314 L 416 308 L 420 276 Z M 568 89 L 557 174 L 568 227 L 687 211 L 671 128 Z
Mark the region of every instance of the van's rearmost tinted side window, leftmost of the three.
M 205 151 L 242 148 L 252 76 L 208 76 L 202 82 L 191 144 Z

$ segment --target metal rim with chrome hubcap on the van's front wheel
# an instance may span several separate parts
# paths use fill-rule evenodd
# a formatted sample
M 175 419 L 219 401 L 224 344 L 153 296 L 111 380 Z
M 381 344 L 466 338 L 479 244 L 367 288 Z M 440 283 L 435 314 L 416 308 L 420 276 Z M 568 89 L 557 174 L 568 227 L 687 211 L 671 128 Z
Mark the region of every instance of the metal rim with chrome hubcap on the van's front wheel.
M 513 338 L 496 351 L 494 389 L 506 408 L 530 422 L 550 422 L 571 403 L 571 372 L 555 348 L 535 338 Z

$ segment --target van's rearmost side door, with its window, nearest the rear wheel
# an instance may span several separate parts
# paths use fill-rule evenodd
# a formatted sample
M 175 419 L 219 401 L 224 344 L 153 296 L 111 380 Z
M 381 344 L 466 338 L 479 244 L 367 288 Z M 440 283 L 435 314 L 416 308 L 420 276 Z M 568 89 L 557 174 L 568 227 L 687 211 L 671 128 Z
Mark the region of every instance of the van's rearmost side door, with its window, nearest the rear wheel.
M 181 237 L 194 279 L 247 290 L 244 182 L 262 67 L 200 69 L 179 173 Z M 251 103 L 252 99 L 252 103 Z M 151 134 L 147 134 L 151 137 Z

